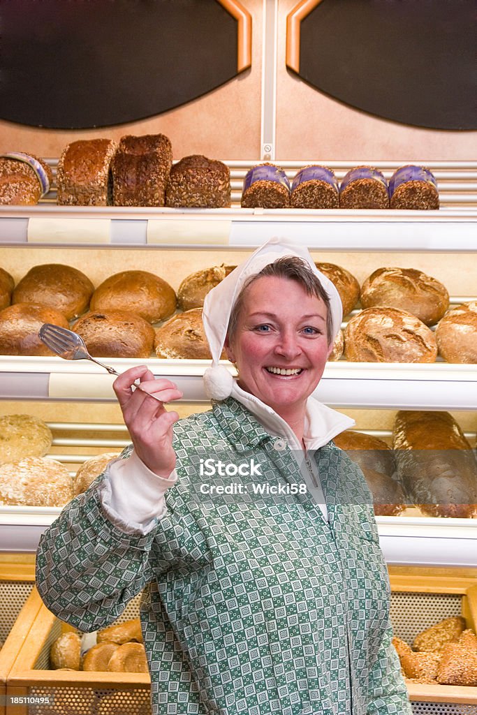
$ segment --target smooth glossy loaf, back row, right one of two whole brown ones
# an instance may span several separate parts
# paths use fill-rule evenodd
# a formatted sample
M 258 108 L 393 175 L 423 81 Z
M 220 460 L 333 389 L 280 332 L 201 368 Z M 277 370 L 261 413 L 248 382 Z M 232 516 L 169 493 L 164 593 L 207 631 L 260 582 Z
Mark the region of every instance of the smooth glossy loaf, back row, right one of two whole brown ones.
M 148 322 L 159 322 L 176 309 L 176 295 L 169 283 L 145 270 L 124 270 L 104 280 L 94 291 L 91 310 L 126 310 Z

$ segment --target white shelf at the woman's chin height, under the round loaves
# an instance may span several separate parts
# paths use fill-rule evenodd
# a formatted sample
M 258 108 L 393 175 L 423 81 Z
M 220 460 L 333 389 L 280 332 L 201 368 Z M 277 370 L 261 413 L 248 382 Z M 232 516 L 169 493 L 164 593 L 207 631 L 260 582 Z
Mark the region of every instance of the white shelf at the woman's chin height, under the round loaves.
M 209 360 L 107 360 L 119 373 L 147 365 L 176 383 L 188 402 L 206 400 L 202 375 Z M 232 365 L 223 361 L 233 372 Z M 115 401 L 114 378 L 94 363 L 61 358 L 0 356 L 0 399 Z M 450 363 L 328 363 L 315 396 L 349 408 L 477 410 L 475 365 Z

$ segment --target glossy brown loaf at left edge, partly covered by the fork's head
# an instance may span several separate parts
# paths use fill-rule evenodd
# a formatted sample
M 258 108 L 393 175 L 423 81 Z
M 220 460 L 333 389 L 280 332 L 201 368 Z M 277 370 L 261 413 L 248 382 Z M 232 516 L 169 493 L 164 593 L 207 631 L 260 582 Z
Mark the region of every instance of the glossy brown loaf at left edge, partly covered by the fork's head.
M 67 318 L 55 308 L 35 303 L 16 303 L 0 312 L 0 355 L 54 355 L 39 339 L 44 322 L 69 327 Z

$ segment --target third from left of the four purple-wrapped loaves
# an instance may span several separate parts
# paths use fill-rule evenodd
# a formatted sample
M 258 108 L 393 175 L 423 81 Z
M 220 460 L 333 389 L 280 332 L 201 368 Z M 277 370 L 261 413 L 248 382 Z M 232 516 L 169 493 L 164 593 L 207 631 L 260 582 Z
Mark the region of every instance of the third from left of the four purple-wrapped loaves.
M 354 167 L 340 183 L 340 208 L 388 209 L 388 182 L 374 167 Z

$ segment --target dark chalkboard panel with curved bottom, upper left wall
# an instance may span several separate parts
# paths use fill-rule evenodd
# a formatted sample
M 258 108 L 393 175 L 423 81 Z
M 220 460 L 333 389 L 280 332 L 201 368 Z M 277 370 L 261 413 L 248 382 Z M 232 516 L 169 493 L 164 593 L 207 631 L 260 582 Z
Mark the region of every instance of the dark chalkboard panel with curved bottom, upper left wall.
M 132 122 L 237 74 L 237 21 L 216 0 L 9 0 L 0 20 L 0 115 L 21 124 Z

